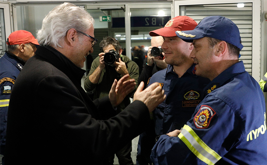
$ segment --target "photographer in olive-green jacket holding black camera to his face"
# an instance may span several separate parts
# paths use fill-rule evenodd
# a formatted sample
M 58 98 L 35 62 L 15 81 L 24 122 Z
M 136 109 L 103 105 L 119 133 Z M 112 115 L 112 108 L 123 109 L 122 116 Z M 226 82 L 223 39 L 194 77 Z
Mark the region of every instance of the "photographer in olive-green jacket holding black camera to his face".
M 137 64 L 122 55 L 122 47 L 118 40 L 110 36 L 104 37 L 99 44 L 102 53 L 94 59 L 90 72 L 84 81 L 84 88 L 86 91 L 94 91 L 94 100 L 103 98 L 109 95 L 109 91 L 114 82 L 114 79 L 119 80 L 122 76 L 129 74 L 129 79 L 135 79 L 136 86 L 128 97 L 126 96 L 122 103 L 117 106 L 117 113 L 120 113 L 126 106 L 130 104 L 130 97 L 134 96 L 137 89 L 137 79 L 139 77 L 139 68 Z M 115 116 L 116 114 L 114 114 Z M 110 118 L 111 116 L 107 116 Z M 120 151 L 116 152 L 119 164 L 133 165 L 131 158 L 132 143 L 128 143 Z M 109 163 L 113 164 L 114 155 L 110 157 Z

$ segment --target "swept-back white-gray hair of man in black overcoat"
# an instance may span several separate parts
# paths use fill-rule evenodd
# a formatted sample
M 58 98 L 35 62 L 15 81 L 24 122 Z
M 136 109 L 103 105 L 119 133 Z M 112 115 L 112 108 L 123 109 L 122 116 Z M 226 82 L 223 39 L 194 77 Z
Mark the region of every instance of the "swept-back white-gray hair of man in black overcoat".
M 85 32 L 94 25 L 94 18 L 72 3 L 63 3 L 51 10 L 37 31 L 38 43 L 43 46 L 62 47 L 62 39 L 69 29 Z

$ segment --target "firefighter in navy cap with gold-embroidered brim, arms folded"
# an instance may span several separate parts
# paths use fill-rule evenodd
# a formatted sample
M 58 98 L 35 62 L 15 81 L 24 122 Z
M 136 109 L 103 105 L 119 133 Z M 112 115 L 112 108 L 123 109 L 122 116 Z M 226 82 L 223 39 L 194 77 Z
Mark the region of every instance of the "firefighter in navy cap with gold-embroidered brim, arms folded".
M 243 45 L 237 25 L 209 16 L 194 30 L 176 34 L 193 42 L 190 57 L 196 75 L 211 82 L 183 129 L 159 138 L 151 154 L 153 164 L 266 164 L 265 99 L 238 60 Z

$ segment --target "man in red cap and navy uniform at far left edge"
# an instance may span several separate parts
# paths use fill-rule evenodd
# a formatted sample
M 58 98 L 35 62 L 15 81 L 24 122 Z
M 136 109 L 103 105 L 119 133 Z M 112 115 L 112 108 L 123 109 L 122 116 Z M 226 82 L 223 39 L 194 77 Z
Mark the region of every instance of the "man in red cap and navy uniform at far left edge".
M 7 51 L 0 58 L 0 122 L 1 122 L 1 155 L 6 147 L 6 121 L 9 99 L 14 82 L 30 57 L 34 56 L 38 41 L 26 30 L 18 30 L 10 34 L 6 41 Z M 2 159 L 4 164 L 4 159 Z

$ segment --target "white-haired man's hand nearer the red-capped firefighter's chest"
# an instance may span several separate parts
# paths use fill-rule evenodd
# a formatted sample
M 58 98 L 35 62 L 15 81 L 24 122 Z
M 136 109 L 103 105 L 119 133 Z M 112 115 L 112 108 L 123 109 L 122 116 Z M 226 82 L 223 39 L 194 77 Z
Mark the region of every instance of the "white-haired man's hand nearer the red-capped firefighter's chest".
M 151 84 L 145 88 L 145 90 L 143 90 L 143 88 L 144 82 L 141 82 L 134 94 L 134 101 L 139 100 L 145 103 L 149 112 L 152 112 L 161 102 L 165 100 L 166 95 L 158 83 Z

